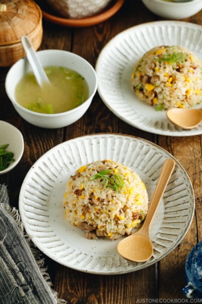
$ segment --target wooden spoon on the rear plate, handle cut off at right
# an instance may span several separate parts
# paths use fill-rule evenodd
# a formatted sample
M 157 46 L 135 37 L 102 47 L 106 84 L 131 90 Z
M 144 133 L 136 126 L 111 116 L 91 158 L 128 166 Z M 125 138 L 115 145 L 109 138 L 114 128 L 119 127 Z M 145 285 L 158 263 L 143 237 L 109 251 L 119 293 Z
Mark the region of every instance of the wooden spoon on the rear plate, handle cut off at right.
M 176 127 L 182 129 L 193 129 L 202 122 L 201 109 L 179 109 L 173 108 L 167 111 L 168 120 Z

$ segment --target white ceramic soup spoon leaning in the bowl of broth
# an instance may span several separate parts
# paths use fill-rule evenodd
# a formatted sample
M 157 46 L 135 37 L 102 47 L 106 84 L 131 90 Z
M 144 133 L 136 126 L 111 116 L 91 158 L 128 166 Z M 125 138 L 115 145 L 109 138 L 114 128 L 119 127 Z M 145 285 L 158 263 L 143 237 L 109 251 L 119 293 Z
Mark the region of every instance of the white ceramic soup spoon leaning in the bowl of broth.
M 32 67 L 38 85 L 41 87 L 43 82 L 49 83 L 47 75 L 40 61 L 38 60 L 36 52 L 34 51 L 34 48 L 26 35 L 21 37 L 21 43 L 25 53 L 27 54 L 27 59 Z

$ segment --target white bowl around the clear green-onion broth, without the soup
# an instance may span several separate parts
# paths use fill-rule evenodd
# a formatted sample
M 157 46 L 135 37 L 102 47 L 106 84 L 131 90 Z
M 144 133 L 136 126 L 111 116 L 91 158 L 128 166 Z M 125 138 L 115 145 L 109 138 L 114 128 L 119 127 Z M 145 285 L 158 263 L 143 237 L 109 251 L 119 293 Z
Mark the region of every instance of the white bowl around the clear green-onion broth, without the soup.
M 97 76 L 94 68 L 84 58 L 63 50 L 44 50 L 36 52 L 42 66 L 63 66 L 81 74 L 89 89 L 88 99 L 76 108 L 56 114 L 43 114 L 30 111 L 21 106 L 15 98 L 15 88 L 25 73 L 32 71 L 31 66 L 24 57 L 18 60 L 8 71 L 6 76 L 6 92 L 19 115 L 32 125 L 42 128 L 55 129 L 69 126 L 79 120 L 88 109 L 97 90 Z

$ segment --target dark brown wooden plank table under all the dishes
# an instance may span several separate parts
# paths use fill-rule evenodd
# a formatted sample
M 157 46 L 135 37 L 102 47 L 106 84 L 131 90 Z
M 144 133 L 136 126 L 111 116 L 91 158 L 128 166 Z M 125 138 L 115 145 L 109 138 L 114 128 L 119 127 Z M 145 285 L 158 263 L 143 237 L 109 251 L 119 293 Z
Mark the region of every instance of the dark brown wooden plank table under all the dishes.
M 162 19 L 148 11 L 141 0 L 125 0 L 123 7 L 112 18 L 91 27 L 68 28 L 43 20 L 40 50 L 71 51 L 94 67 L 100 51 L 116 34 L 131 26 L 157 20 Z M 202 25 L 202 11 L 183 21 Z M 8 70 L 7 67 L 0 69 L 0 120 L 16 126 L 25 141 L 20 163 L 9 173 L 0 176 L 0 182 L 8 185 L 12 206 L 18 208 L 22 182 L 36 160 L 61 142 L 92 133 L 122 133 L 158 144 L 181 163 L 194 187 L 195 213 L 188 233 L 170 254 L 150 267 L 124 275 L 93 275 L 64 267 L 44 256 L 47 272 L 59 297 L 71 304 L 131 304 L 149 302 L 151 299 L 186 299 L 182 294 L 185 260 L 190 250 L 202 239 L 201 135 L 168 137 L 131 127 L 106 107 L 98 93 L 85 115 L 76 123 L 61 129 L 35 127 L 18 115 L 7 97 L 5 78 Z

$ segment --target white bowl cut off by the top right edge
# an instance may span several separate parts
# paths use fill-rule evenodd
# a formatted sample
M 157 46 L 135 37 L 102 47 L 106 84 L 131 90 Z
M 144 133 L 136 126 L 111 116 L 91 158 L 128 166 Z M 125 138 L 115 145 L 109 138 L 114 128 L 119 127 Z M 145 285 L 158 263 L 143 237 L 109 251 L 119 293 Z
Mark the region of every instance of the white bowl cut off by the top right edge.
M 202 9 L 201 0 L 189 2 L 167 2 L 164 0 L 142 0 L 151 12 L 168 19 L 184 19 L 191 17 Z

